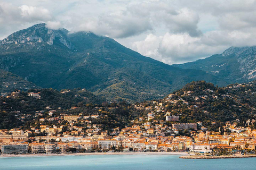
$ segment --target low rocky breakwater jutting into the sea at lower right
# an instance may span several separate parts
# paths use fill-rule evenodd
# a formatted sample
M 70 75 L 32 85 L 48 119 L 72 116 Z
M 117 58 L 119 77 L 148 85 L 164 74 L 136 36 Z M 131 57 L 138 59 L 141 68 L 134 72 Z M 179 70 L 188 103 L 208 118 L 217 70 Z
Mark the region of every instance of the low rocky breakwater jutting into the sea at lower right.
M 254 158 L 256 155 L 226 155 L 226 156 L 180 156 L 181 159 L 231 159 L 231 158 Z

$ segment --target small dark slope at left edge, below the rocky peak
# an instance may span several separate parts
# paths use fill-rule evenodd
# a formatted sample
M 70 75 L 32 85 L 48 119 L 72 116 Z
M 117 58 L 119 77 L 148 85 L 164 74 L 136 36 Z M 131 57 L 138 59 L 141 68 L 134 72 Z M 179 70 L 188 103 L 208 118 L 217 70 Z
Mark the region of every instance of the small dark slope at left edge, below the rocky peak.
M 11 72 L 7 72 L 2 69 L 0 69 L 0 84 L 0 93 L 14 91 L 15 89 L 28 90 L 40 88 L 32 82 L 26 81 L 18 75 L 12 74 Z

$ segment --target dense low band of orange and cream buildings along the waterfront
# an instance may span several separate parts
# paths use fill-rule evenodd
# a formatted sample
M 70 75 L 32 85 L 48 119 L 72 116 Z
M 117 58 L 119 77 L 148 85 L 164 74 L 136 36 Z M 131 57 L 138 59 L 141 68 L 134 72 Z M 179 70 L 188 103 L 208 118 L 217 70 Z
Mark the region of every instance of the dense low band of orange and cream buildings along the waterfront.
M 78 116 L 68 116 L 70 122 L 74 122 Z M 64 116 L 66 119 L 67 117 Z M 200 124 L 198 122 L 197 124 Z M 0 130 L 2 154 L 53 154 L 68 152 L 171 152 L 190 151 L 204 154 L 213 154 L 225 151 L 237 153 L 244 151 L 247 154 L 255 154 L 256 130 L 251 128 L 236 127 L 235 124 L 226 123 L 226 128 L 232 133 L 221 135 L 220 132 L 211 131 L 190 131 L 191 137 L 186 136 L 165 136 L 166 132 L 177 131 L 177 128 L 196 124 L 173 124 L 164 126 L 156 124 L 151 126 L 132 126 L 124 129 L 114 129 L 114 135 L 108 135 L 101 131 L 97 125 L 86 131 L 89 135 L 82 135 L 83 128 L 70 126 L 71 134 L 66 133 L 60 136 L 61 128 L 49 128 L 41 125 L 41 129 L 31 128 L 30 131 L 19 129 Z M 176 128 L 173 128 L 173 127 Z M 95 127 L 95 128 L 93 128 Z M 29 137 L 29 134 L 40 131 L 48 132 L 47 136 Z M 156 133 L 154 133 L 156 132 Z M 80 135 L 77 135 L 80 133 Z

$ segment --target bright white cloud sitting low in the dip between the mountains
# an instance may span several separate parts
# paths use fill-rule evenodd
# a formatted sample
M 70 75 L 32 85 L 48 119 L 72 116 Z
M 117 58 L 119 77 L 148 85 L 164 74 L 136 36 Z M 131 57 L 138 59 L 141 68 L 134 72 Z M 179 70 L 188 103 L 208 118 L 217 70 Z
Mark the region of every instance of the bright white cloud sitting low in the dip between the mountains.
M 164 36 L 148 35 L 145 40 L 134 42 L 133 48 L 142 55 L 167 64 L 190 62 L 229 47 L 225 42 L 220 43 L 221 40 L 212 40 L 218 32 L 211 32 L 211 34 L 201 37 L 192 37 L 188 33 L 171 34 L 169 32 Z

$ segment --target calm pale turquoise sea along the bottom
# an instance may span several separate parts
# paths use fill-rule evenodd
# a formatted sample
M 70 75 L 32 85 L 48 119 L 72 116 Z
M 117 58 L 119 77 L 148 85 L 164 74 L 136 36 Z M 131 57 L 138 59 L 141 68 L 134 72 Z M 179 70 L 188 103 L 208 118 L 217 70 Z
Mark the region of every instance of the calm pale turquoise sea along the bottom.
M 177 155 L 86 155 L 0 158 L 0 169 L 256 169 L 256 158 L 180 159 Z

